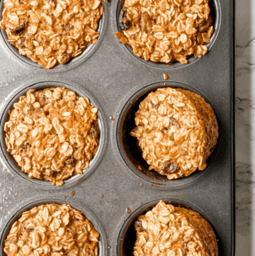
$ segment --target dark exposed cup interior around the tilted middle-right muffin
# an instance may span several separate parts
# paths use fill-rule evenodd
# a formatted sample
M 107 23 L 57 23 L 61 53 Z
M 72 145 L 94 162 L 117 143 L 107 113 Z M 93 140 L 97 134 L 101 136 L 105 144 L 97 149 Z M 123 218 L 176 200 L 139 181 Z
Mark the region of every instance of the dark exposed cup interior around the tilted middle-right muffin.
M 123 160 L 128 165 L 128 167 L 137 174 L 142 179 L 145 179 L 147 182 L 160 183 L 165 186 L 178 186 L 181 184 L 185 184 L 187 182 L 191 182 L 193 179 L 196 179 L 200 174 L 205 172 L 206 170 L 210 169 L 210 164 L 212 163 L 215 155 L 217 154 L 217 148 L 219 145 L 219 138 L 220 138 L 220 128 L 219 128 L 219 137 L 217 140 L 217 145 L 213 150 L 208 160 L 206 160 L 207 167 L 203 172 L 199 172 L 198 170 L 191 174 L 188 177 L 181 177 L 179 179 L 172 179 L 169 180 L 166 176 L 159 174 L 158 172 L 154 171 L 153 169 L 149 171 L 149 165 L 147 162 L 142 158 L 142 152 L 137 145 L 137 138 L 134 138 L 130 135 L 130 131 L 135 128 L 135 113 L 139 109 L 139 104 L 142 100 L 144 100 L 147 95 L 152 91 L 157 91 L 159 88 L 166 88 L 166 87 L 173 87 L 173 88 L 181 88 L 186 89 L 189 91 L 196 92 L 200 96 L 205 99 L 208 104 L 210 101 L 206 99 L 206 97 L 201 94 L 193 87 L 189 87 L 186 84 L 181 84 L 178 82 L 158 82 L 155 84 L 151 84 L 140 91 L 137 91 L 128 102 L 125 104 L 123 110 L 120 113 L 120 117 L 118 119 L 117 125 L 117 143 L 118 149 L 120 150 L 120 155 L 123 157 Z M 212 104 L 210 104 L 212 106 Z M 216 114 L 216 113 L 215 113 Z M 217 116 L 217 115 L 216 115 Z M 219 123 L 219 122 L 218 122 Z

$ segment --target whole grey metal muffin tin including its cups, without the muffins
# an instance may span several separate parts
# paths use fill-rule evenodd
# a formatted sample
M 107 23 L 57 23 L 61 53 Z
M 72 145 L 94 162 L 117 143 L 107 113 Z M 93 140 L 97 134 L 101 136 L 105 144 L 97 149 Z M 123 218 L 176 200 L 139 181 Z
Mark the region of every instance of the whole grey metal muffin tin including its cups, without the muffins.
M 198 211 L 215 229 L 220 255 L 234 255 L 234 4 L 214 0 L 216 29 L 208 54 L 200 59 L 191 57 L 192 65 L 171 67 L 140 61 L 115 38 L 120 1 L 103 3 L 102 33 L 93 50 L 52 70 L 21 61 L 6 45 L 1 31 L 0 255 L 4 255 L 6 232 L 21 211 L 56 202 L 84 212 L 101 235 L 101 256 L 125 256 L 120 243 L 125 228 L 159 199 Z M 169 75 L 166 81 L 163 73 Z M 6 154 L 3 140 L 3 123 L 11 104 L 28 89 L 47 86 L 64 86 L 88 96 L 100 113 L 101 145 L 96 157 L 86 173 L 72 177 L 62 187 L 28 180 Z M 165 86 L 203 96 L 214 108 L 220 126 L 217 148 L 205 171 L 174 181 L 140 172 L 125 156 L 126 142 L 122 140 L 126 111 L 137 107 L 140 96 L 149 90 Z M 137 161 L 145 164 L 140 158 Z

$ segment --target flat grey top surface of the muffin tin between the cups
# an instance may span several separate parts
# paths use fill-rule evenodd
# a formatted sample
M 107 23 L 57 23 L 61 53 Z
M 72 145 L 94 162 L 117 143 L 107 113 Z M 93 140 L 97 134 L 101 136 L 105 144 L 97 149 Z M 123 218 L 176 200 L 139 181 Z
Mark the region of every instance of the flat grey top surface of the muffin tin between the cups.
M 70 204 L 73 202 L 91 211 L 106 233 L 107 246 L 111 247 L 107 254 L 115 256 L 120 228 L 123 220 L 128 218 L 127 207 L 135 211 L 141 203 L 162 198 L 176 199 L 187 201 L 205 212 L 219 235 L 222 255 L 232 255 L 232 1 L 220 1 L 224 15 L 208 55 L 181 69 L 158 69 L 136 60 L 114 37 L 117 1 L 104 6 L 108 19 L 104 19 L 101 43 L 84 62 L 64 69 L 64 72 L 21 65 L 0 41 L 1 113 L 8 101 L 31 79 L 61 81 L 76 84 L 93 96 L 107 123 L 106 150 L 101 162 L 89 177 L 72 183 L 72 187 L 52 189 L 28 182 L 13 172 L 1 155 L 0 233 L 11 216 L 28 203 L 50 198 L 65 200 L 64 196 L 67 196 Z M 163 82 L 163 73 L 169 74 L 168 81 L 187 84 L 204 94 L 220 121 L 219 150 L 210 170 L 178 187 L 152 187 L 151 183 L 133 174 L 120 156 L 116 140 L 118 114 L 125 103 L 143 87 Z M 140 186 L 141 182 L 143 186 Z M 75 191 L 75 196 L 69 196 L 71 191 Z

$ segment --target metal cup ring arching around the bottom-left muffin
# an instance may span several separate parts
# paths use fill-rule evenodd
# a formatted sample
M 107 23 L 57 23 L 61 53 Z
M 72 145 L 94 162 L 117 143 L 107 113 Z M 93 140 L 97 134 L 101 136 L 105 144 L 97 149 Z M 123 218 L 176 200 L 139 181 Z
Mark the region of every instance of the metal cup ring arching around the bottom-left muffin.
M 31 208 L 35 207 L 35 206 L 40 206 L 41 204 L 69 204 L 70 206 L 72 206 L 73 208 L 77 209 L 78 211 L 81 211 L 84 216 L 92 223 L 92 225 L 94 226 L 95 230 L 99 233 L 99 243 L 98 243 L 98 256 L 105 256 L 107 255 L 106 252 L 106 235 L 103 232 L 103 228 L 100 224 L 100 222 L 97 220 L 97 218 L 94 216 L 93 213 L 91 213 L 91 211 L 89 211 L 88 208 L 86 208 L 85 206 L 83 206 L 80 202 L 70 202 L 67 200 L 62 200 L 62 199 L 40 199 L 38 201 L 33 201 L 30 204 L 27 204 L 26 206 L 20 208 L 8 221 L 8 223 L 6 224 L 3 233 L 1 234 L 1 241 L 0 241 L 0 255 L 6 255 L 4 253 L 4 240 L 6 240 L 6 237 L 8 235 L 9 230 L 11 229 L 11 226 L 13 225 L 13 223 L 15 221 L 18 221 L 18 218 L 21 218 L 21 215 L 24 211 L 28 211 Z

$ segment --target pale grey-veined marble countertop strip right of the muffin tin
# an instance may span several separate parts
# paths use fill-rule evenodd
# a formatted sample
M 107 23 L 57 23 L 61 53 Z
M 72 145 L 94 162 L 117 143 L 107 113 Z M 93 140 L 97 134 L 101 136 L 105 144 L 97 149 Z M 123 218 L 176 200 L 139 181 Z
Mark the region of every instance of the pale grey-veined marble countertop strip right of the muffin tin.
M 255 255 L 255 1 L 236 1 L 236 244 Z

